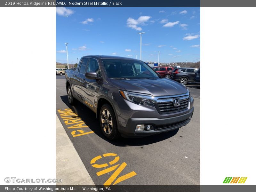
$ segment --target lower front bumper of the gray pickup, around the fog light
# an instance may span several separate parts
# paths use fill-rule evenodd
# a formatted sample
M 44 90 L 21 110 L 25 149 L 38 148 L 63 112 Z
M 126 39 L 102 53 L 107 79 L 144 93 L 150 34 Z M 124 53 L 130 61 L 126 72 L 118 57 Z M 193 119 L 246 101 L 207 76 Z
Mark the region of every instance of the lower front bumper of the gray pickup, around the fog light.
M 148 136 L 159 134 L 161 132 L 168 132 L 178 129 L 188 124 L 193 116 L 194 107 L 192 107 L 188 113 L 180 116 L 168 117 L 168 118 L 130 118 L 126 127 L 119 126 L 118 131 L 124 137 L 136 137 L 136 136 Z M 153 125 L 154 129 L 150 131 L 136 131 L 137 124 Z

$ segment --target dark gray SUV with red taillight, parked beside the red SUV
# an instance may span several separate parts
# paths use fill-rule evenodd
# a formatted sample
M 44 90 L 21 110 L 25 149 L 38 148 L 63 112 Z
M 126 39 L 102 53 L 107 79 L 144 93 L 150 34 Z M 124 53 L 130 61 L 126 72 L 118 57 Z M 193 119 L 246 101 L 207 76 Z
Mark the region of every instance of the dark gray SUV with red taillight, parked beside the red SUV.
M 198 68 L 175 68 L 172 71 L 171 78 L 183 85 L 186 85 L 188 82 L 194 82 L 194 77 L 197 70 Z

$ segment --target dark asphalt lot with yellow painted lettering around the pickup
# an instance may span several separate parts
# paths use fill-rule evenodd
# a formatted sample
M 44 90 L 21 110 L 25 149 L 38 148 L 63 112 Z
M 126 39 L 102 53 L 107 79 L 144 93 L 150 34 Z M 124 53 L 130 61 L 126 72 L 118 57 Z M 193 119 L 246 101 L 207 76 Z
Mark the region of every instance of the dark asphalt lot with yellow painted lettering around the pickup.
M 145 138 L 106 140 L 89 108 L 68 104 L 65 76 L 56 76 L 56 114 L 95 185 L 200 185 L 200 88 L 188 89 L 195 107 L 190 123 Z M 79 122 L 63 120 L 70 114 L 81 119 L 76 137 L 72 128 Z

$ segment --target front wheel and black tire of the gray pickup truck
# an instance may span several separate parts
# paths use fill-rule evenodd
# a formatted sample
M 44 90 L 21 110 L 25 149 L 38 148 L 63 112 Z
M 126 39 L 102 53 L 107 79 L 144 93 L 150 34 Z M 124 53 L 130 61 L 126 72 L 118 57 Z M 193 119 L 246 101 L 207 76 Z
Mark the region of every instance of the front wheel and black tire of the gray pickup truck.
M 108 113 L 110 116 L 108 115 Z M 108 104 L 102 105 L 100 109 L 99 119 L 100 119 L 100 129 L 106 138 L 108 138 L 109 140 L 116 140 L 120 137 L 120 133 L 118 132 L 118 129 L 117 129 L 115 113 Z

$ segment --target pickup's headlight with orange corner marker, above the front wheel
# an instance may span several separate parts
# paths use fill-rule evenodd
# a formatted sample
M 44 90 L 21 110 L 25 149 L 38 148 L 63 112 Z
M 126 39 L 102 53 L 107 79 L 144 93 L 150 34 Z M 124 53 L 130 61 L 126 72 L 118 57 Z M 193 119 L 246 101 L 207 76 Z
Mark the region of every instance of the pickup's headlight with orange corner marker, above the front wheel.
M 152 97 L 152 95 L 142 95 L 122 90 L 119 90 L 119 93 L 121 97 L 123 97 L 125 100 L 131 101 L 137 105 L 149 105 L 154 107 L 152 100 L 149 99 L 150 97 Z

